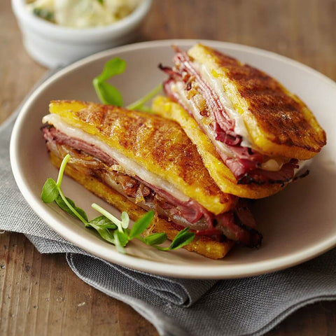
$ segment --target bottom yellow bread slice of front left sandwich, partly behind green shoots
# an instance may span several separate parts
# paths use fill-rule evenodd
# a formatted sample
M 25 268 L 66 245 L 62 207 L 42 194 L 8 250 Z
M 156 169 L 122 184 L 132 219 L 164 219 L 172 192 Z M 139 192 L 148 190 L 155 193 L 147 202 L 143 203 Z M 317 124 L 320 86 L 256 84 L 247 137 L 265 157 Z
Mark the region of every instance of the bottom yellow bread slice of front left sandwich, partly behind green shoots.
M 57 168 L 60 167 L 62 159 L 58 158 L 51 152 L 50 160 L 52 165 Z M 130 202 L 130 200 L 127 200 L 126 197 L 109 188 L 104 183 L 94 179 L 92 176 L 78 172 L 76 167 L 71 165 L 71 159 L 66 165 L 64 172 L 66 175 L 70 176 L 72 179 L 84 186 L 87 190 L 90 190 L 109 204 L 112 204 L 113 207 L 116 207 L 116 209 L 120 212 L 126 211 L 133 221 L 137 221 L 141 218 L 141 216 L 146 214 L 144 209 L 141 209 L 141 207 L 137 206 L 137 204 Z M 155 224 L 153 225 L 153 230 L 151 230 L 151 232 L 166 232 L 168 239 L 173 240 L 179 233 L 179 230 L 181 229 L 174 225 L 174 223 L 165 221 L 165 219 L 162 218 L 155 218 Z M 151 232 L 148 232 L 148 234 Z M 204 255 L 207 258 L 221 259 L 228 253 L 228 251 L 230 251 L 233 245 L 234 242 L 230 240 L 220 242 L 211 239 L 211 237 L 196 236 L 195 239 L 190 244 L 184 246 L 184 248 L 188 251 Z

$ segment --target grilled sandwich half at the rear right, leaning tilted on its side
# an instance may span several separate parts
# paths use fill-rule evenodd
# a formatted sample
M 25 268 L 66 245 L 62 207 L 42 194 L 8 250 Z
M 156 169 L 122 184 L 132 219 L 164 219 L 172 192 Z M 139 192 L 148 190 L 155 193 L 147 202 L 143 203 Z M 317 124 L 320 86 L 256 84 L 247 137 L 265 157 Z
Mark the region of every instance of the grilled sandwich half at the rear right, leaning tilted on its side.
M 175 51 L 174 67 L 160 65 L 170 100 L 153 110 L 183 127 L 224 193 L 272 195 L 325 145 L 313 113 L 267 73 L 201 44 Z

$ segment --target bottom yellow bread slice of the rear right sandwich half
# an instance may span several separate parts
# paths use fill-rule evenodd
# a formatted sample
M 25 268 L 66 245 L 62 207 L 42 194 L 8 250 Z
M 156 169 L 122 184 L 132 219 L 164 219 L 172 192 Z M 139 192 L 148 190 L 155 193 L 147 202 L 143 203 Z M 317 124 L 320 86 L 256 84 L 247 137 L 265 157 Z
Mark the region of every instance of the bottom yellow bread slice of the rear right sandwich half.
M 262 198 L 277 193 L 284 186 L 280 184 L 237 184 L 237 179 L 233 176 L 230 169 L 225 165 L 218 155 L 216 148 L 211 143 L 206 134 L 200 129 L 195 119 L 183 109 L 179 104 L 172 100 L 158 96 L 155 97 L 152 104 L 154 113 L 162 117 L 175 120 L 181 125 L 188 137 L 193 141 L 200 153 L 204 166 L 208 169 L 211 177 L 221 188 L 223 193 L 230 193 L 245 198 Z

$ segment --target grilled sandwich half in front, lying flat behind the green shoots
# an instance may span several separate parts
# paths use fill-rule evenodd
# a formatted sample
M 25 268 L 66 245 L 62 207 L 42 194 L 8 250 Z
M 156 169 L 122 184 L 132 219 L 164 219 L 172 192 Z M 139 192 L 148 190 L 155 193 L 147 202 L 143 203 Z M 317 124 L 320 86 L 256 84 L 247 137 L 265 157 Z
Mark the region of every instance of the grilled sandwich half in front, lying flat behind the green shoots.
M 53 101 L 43 118 L 53 165 L 66 154 L 65 173 L 134 221 L 149 209 L 151 232 L 174 239 L 189 227 L 186 248 L 223 258 L 234 244 L 259 246 L 262 236 L 245 200 L 223 193 L 196 146 L 172 120 L 116 106 Z

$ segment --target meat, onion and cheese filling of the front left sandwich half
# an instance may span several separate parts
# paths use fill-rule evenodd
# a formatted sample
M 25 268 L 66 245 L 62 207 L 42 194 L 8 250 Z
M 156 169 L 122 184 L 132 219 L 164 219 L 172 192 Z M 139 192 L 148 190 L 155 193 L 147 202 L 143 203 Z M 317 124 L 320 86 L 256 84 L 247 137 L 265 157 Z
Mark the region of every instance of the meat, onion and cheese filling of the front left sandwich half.
M 233 211 L 211 214 L 160 176 L 146 171 L 97 137 L 67 125 L 60 116 L 45 116 L 43 123 L 50 124 L 42 129 L 48 150 L 61 159 L 69 153 L 69 165 L 78 174 L 92 176 L 139 207 L 154 209 L 158 216 L 181 228 L 189 226 L 197 235 L 231 239 L 250 247 L 260 245 L 262 236 L 244 200 Z

